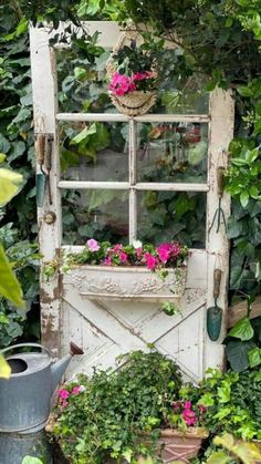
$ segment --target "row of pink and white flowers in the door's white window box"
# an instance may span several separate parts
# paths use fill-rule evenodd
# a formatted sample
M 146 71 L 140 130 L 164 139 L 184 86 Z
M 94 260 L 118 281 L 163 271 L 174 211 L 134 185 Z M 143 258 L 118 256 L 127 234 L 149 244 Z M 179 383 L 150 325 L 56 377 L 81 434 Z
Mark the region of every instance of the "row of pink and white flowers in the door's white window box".
M 154 245 L 143 245 L 136 240 L 132 245 L 111 245 L 107 241 L 87 240 L 86 249 L 81 257 L 75 258 L 79 264 L 103 266 L 145 266 L 149 270 L 186 265 L 188 249 L 177 241 Z

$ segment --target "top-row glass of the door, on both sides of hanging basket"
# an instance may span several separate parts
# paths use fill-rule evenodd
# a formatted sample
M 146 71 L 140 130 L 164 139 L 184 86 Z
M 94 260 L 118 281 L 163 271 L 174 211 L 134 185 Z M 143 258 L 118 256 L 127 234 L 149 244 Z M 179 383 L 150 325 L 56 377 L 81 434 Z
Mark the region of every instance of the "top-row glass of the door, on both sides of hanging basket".
M 108 96 L 106 63 L 111 51 L 92 47 L 58 50 L 59 111 L 117 113 Z M 158 99 L 153 113 L 208 114 L 209 93 L 202 75 L 181 76 L 180 49 L 166 50 Z M 181 64 L 182 65 L 182 64 Z

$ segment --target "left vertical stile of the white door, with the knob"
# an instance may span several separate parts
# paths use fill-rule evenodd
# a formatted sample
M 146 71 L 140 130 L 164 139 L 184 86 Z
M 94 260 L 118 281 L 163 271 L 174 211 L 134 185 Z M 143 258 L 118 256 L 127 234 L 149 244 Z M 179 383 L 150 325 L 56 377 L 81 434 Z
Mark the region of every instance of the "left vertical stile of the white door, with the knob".
M 54 355 L 60 354 L 60 288 L 58 274 L 46 281 L 43 276 L 44 262 L 58 259 L 61 248 L 61 197 L 59 141 L 55 115 L 58 113 L 58 85 L 55 51 L 49 47 L 50 35 L 44 29 L 30 29 L 30 52 L 34 111 L 34 133 L 51 135 L 51 202 L 45 192 L 42 207 L 38 207 L 39 246 L 41 260 L 41 338 Z M 38 148 L 36 144 L 35 147 Z M 39 166 L 36 167 L 39 172 Z M 50 215 L 51 213 L 51 215 Z M 54 215 L 52 215 L 54 214 Z

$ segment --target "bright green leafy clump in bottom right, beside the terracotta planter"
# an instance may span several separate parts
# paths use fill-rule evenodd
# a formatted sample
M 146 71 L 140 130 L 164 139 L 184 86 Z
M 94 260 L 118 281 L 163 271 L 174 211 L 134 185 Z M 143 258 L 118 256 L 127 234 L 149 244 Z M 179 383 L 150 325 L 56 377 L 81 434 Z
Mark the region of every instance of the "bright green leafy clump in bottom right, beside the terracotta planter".
M 197 391 L 207 408 L 205 426 L 213 434 L 223 431 L 242 440 L 261 439 L 261 374 L 208 370 Z

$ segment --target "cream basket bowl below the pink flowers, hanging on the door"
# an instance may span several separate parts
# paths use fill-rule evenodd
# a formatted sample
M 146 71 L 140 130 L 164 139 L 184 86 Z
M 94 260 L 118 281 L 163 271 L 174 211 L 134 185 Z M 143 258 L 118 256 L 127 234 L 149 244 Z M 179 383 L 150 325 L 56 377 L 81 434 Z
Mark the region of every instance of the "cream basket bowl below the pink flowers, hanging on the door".
M 157 100 L 157 92 L 134 91 L 126 95 L 109 94 L 111 100 L 116 109 L 127 116 L 140 116 L 148 112 L 155 105 Z

